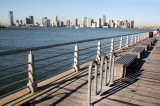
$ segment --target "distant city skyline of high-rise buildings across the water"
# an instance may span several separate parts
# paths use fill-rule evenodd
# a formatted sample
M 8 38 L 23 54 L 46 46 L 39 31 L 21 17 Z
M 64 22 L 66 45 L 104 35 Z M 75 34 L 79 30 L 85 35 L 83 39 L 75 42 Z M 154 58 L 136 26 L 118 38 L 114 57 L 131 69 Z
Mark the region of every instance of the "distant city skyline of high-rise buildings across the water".
M 55 16 L 54 22 L 51 22 L 47 17 L 42 18 L 42 23 L 34 23 L 34 16 L 29 16 L 25 19 L 23 23 L 22 20 L 16 20 L 14 23 L 13 11 L 9 11 L 9 26 L 17 27 L 75 27 L 75 28 L 134 28 L 134 20 L 117 20 L 115 22 L 113 19 L 110 19 L 109 22 L 106 21 L 106 16 L 102 15 L 102 18 L 98 18 L 97 21 L 94 21 L 92 18 L 82 17 L 82 23 L 78 23 L 78 19 L 74 19 L 74 24 L 68 19 L 61 21 L 58 19 L 58 16 Z

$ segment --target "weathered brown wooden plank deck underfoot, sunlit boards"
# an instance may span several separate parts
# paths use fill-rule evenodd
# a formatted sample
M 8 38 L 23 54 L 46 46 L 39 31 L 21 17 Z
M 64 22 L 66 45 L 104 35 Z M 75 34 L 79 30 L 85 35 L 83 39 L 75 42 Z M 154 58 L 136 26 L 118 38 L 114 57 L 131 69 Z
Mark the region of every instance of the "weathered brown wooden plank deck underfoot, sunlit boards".
M 99 96 L 94 96 L 92 92 L 92 104 L 94 106 L 160 106 L 160 38 L 142 56 L 142 59 L 138 60 L 135 68 L 127 71 L 128 76 L 125 81 L 117 79 L 114 86 L 103 86 Z M 88 68 L 79 73 L 69 70 L 59 76 L 38 84 L 39 91 L 35 94 L 22 90 L 17 95 L 3 98 L 0 104 L 84 106 L 87 103 Z M 13 96 L 17 98 L 13 100 Z

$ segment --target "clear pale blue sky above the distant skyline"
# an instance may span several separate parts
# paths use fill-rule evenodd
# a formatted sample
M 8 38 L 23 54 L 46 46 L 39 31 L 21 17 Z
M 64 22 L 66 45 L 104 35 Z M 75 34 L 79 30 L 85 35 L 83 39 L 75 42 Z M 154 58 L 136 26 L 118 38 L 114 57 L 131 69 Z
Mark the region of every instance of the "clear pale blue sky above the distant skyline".
M 82 17 L 113 20 L 134 20 L 135 26 L 160 26 L 160 0 L 0 0 L 0 24 L 9 24 L 8 11 L 13 11 L 15 20 L 25 21 L 34 16 L 41 24 L 42 17 L 51 22 L 57 15 L 59 20 L 72 22 Z

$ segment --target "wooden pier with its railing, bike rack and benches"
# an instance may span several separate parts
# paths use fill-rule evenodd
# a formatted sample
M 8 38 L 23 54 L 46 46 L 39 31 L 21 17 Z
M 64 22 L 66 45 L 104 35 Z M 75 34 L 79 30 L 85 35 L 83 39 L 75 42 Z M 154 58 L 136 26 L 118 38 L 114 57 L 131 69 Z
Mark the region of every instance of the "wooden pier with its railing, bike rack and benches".
M 152 39 L 153 37 L 149 36 L 148 32 L 146 32 L 1 52 L 0 56 L 30 51 L 27 63 L 29 70 L 27 71 L 27 87 L 2 96 L 0 105 L 158 106 L 160 105 L 160 37 L 158 35 L 159 32 L 155 31 L 153 36 L 155 40 Z M 116 38 L 119 40 L 114 41 Z M 101 46 L 103 44 L 101 44 L 100 40 L 104 39 L 109 39 L 111 42 L 109 42 L 109 52 L 105 52 L 105 55 L 102 55 Z M 152 39 L 152 41 L 149 41 L 149 39 Z M 78 44 L 89 41 L 98 41 L 98 46 L 96 47 L 97 54 L 95 55 L 94 60 L 89 60 L 80 65 L 80 59 L 78 57 L 80 56 L 79 51 L 82 49 L 79 49 Z M 143 52 L 140 52 L 140 54 L 138 54 L 139 57 L 135 59 L 136 62 L 130 62 L 129 64 L 132 66 L 127 65 L 127 67 L 124 67 L 122 72 L 119 73 L 118 70 L 120 69 L 116 70 L 115 68 L 116 60 L 120 59 L 125 54 L 137 52 L 139 48 L 135 48 L 143 47 L 142 44 L 147 42 L 149 42 L 149 44 L 151 43 L 151 46 L 147 46 L 147 51 L 145 51 L 144 47 Z M 33 63 L 36 60 L 33 58 L 32 51 L 70 44 L 75 44 L 73 68 L 54 75 L 53 77 L 49 77 L 46 80 L 36 82 L 34 79 L 34 71 L 36 70 L 34 70 L 33 67 Z M 117 44 L 118 46 L 116 46 Z M 133 54 L 137 55 L 137 53 Z M 106 60 L 105 56 L 107 57 Z M 37 61 L 40 60 L 43 59 Z M 95 63 L 91 64 L 92 62 Z M 108 64 L 107 68 L 105 67 L 106 64 Z M 98 72 L 95 91 L 96 76 L 94 75 L 96 73 L 96 65 Z M 105 76 L 105 69 L 108 70 L 106 75 L 109 75 L 109 77 Z M 91 77 L 88 75 L 89 72 L 91 72 Z M 93 83 L 90 83 L 89 85 L 89 82 Z

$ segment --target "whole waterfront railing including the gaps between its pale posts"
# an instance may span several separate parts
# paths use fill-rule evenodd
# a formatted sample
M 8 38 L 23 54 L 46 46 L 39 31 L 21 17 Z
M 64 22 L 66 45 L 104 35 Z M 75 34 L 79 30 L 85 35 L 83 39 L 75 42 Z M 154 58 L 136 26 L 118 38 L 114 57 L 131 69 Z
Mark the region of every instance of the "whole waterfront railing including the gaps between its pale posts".
M 102 55 L 110 53 L 110 46 L 112 50 L 117 50 L 117 49 L 121 50 L 123 47 L 132 45 L 137 41 L 139 41 L 137 34 L 144 35 L 143 39 L 148 37 L 148 32 L 142 32 L 142 33 L 133 33 L 133 34 L 113 36 L 113 37 L 96 38 L 96 39 L 81 40 L 81 41 L 74 41 L 74 42 L 68 42 L 68 43 L 0 52 L 0 58 L 5 56 L 10 56 L 10 55 L 14 57 L 14 55 L 20 55 L 22 53 L 25 53 L 25 56 L 23 57 L 25 58 L 27 55 L 26 53 L 29 52 L 28 62 L 24 62 L 24 63 L 13 65 L 13 66 L 5 66 L 5 68 L 0 69 L 0 73 L 3 72 L 0 76 L 1 77 L 0 78 L 0 84 L 1 84 L 0 95 L 3 95 L 2 97 L 4 97 L 7 95 L 8 92 L 13 92 L 13 90 L 10 90 L 10 89 L 12 88 L 18 89 L 20 87 L 24 88 L 26 87 L 26 85 L 28 90 L 34 93 L 37 89 L 38 82 L 43 81 L 54 75 L 57 75 L 61 72 L 64 72 L 68 69 L 73 69 L 75 72 L 78 72 L 79 66 L 81 64 L 89 62 L 93 59 L 96 59 L 97 61 L 100 62 Z M 129 42 L 129 40 L 131 41 Z M 97 41 L 98 41 L 98 46 L 95 43 Z M 75 45 L 75 48 L 73 51 L 71 51 L 72 50 L 71 48 L 73 48 L 74 45 Z M 57 49 L 61 47 L 62 49 Z M 51 50 L 49 53 L 48 51 L 46 51 L 46 53 L 44 53 L 43 56 L 41 56 L 40 51 L 46 50 L 46 49 L 47 50 L 53 49 L 53 50 Z M 69 52 L 65 49 L 69 49 Z M 34 55 L 40 58 L 34 59 Z M 46 55 L 47 57 L 45 57 Z M 21 59 L 23 60 L 23 58 Z M 7 61 L 7 62 L 12 62 L 12 61 Z M 19 70 L 17 72 L 17 68 L 25 69 L 25 71 Z M 9 70 L 13 74 L 11 75 L 8 74 L 10 73 Z M 16 70 L 15 71 L 16 73 L 14 73 L 13 70 L 14 71 Z M 7 71 L 9 72 L 7 73 Z M 17 76 L 20 76 L 20 78 L 18 78 Z M 16 79 L 15 77 L 18 79 L 18 81 L 15 81 Z M 6 81 L 5 79 L 11 80 L 11 81 Z M 16 87 L 14 87 L 13 85 L 15 85 Z

